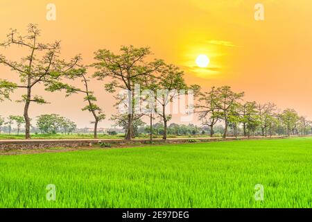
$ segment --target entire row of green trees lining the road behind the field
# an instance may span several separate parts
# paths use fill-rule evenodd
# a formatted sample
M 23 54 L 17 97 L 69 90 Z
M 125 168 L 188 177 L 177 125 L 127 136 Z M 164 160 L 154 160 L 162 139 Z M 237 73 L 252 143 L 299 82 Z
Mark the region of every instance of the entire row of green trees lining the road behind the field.
M 31 24 L 28 26 L 27 35 L 19 35 L 16 30 L 12 30 L 7 40 L 0 44 L 5 48 L 14 45 L 21 46 L 20 49 L 28 49 L 30 52 L 20 61 L 8 60 L 0 54 L 0 64 L 10 67 L 20 77 L 19 83 L 0 80 L 0 100 L 10 99 L 10 93 L 17 88 L 25 90 L 25 94 L 18 102 L 24 103 L 26 139 L 31 137 L 31 119 L 28 114 L 31 103 L 46 103 L 42 96 L 33 95 L 33 89 L 40 83 L 49 92 L 63 90 L 66 96 L 82 94 L 83 101 L 86 103 L 83 110 L 88 110 L 94 117 L 94 138 L 96 138 L 98 122 L 105 119 L 105 114 L 96 104 L 96 96 L 89 86 L 89 76 L 104 81 L 107 92 L 115 93 L 116 89 L 127 91 L 125 95 L 119 94 L 114 97 L 115 105 L 119 107 L 123 105 L 128 112 L 115 114 L 111 118 L 116 126 L 125 129 L 125 139 L 135 137 L 137 126 L 140 126 L 142 118 L 146 116 L 150 118 L 150 137 L 152 137 L 154 114 L 164 124 L 163 138 L 166 139 L 168 121 L 171 120 L 171 114 L 166 112 L 166 108 L 180 93 L 189 89 L 192 89 L 196 96 L 197 104 L 194 108 L 202 123 L 211 127 L 211 135 L 214 135 L 214 126 L 219 121 L 223 121 L 225 126 L 223 137 L 227 136 L 228 128 L 234 128 L 236 132 L 234 134 L 237 136 L 241 125 L 245 136 L 254 134 L 259 127 L 263 130 L 263 135 L 268 133 L 272 135 L 272 129 L 277 125 L 286 127 L 288 135 L 298 133 L 299 126 L 309 128 L 309 121 L 298 117 L 294 110 L 288 109 L 278 114 L 272 103 L 265 105 L 255 102 L 241 103 L 244 93 L 232 92 L 228 86 L 213 87 L 211 92 L 202 93 L 199 85 L 185 83 L 184 72 L 180 68 L 167 65 L 164 60 L 150 60 L 152 52 L 148 48 L 121 46 L 119 54 L 107 49 L 99 49 L 94 53 L 94 62 L 90 65 L 83 65 L 80 55 L 74 56 L 68 62 L 60 59 L 60 42 L 42 44 L 38 41 L 39 36 L 39 29 Z M 89 67 L 93 67 L 96 71 L 89 74 Z M 83 88 L 69 84 L 69 80 L 81 80 Z M 140 92 L 145 89 L 153 92 L 152 96 L 140 98 L 144 101 L 155 101 L 155 103 L 149 103 L 148 109 L 144 112 L 141 110 L 138 112 L 136 109 L 138 103 L 135 98 L 136 85 L 140 85 Z M 159 91 L 162 92 L 160 96 Z M 125 97 L 127 97 L 126 100 Z M 301 120 L 300 123 L 299 120 Z

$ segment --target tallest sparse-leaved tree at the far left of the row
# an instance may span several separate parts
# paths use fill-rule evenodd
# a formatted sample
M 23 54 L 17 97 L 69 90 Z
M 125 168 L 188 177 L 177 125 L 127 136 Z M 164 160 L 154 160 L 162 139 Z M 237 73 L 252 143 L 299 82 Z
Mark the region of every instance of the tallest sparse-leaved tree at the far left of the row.
M 33 95 L 33 89 L 40 83 L 48 86 L 53 81 L 58 80 L 60 76 L 67 74 L 67 71 L 73 69 L 80 60 L 80 56 L 75 56 L 70 62 L 60 60 L 60 42 L 52 44 L 42 44 L 38 42 L 40 30 L 36 25 L 30 24 L 27 29 L 27 35 L 22 36 L 16 30 L 11 30 L 7 35 L 7 40 L 0 46 L 21 46 L 21 49 L 29 51 L 28 56 L 21 58 L 19 62 L 10 61 L 0 54 L 0 64 L 10 67 L 12 71 L 19 74 L 20 83 L 11 83 L 8 80 L 0 80 L 0 93 L 2 97 L 8 98 L 8 94 L 13 89 L 22 88 L 26 94 L 21 96 L 19 102 L 24 103 L 24 119 L 26 122 L 26 139 L 31 138 L 30 128 L 31 119 L 28 110 L 31 103 L 44 104 L 46 101 L 42 96 Z

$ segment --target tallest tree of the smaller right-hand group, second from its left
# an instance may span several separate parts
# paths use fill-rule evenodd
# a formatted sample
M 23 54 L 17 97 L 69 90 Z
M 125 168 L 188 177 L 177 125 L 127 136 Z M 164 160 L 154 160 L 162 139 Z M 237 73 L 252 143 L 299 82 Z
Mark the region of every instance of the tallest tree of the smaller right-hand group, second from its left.
M 220 119 L 223 119 L 225 122 L 225 130 L 223 134 L 223 138 L 225 138 L 227 137 L 229 123 L 229 110 L 232 108 L 232 105 L 235 105 L 235 103 L 243 98 L 244 93 L 233 92 L 229 86 L 218 87 L 217 89 L 213 87 L 213 91 L 212 101 L 216 108 L 220 110 Z

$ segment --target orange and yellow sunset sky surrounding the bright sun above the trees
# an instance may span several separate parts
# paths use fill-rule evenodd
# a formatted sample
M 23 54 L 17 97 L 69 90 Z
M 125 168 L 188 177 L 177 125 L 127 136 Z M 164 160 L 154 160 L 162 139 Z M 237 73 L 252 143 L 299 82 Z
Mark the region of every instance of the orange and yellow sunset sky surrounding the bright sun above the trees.
M 96 49 L 116 51 L 121 44 L 150 46 L 155 57 L 186 72 L 187 83 L 230 85 L 244 91 L 246 100 L 272 101 L 279 108 L 295 108 L 312 117 L 312 1 L 311 0 L 0 0 L 0 40 L 10 28 L 24 33 L 39 24 L 42 42 L 62 40 L 64 58 L 82 53 L 93 61 Z M 55 3 L 56 21 L 46 20 L 46 4 Z M 263 3 L 265 20 L 254 20 L 254 5 Z M 11 60 L 19 51 L 0 54 Z M 196 68 L 196 56 L 210 58 L 207 69 Z M 0 78 L 16 74 L 0 66 Z M 94 80 L 94 92 L 108 117 L 115 112 L 112 95 Z M 42 89 L 37 89 L 37 94 Z M 17 91 L 12 99 L 23 94 Z M 62 93 L 43 93 L 49 105 L 32 104 L 30 114 L 71 116 L 78 126 L 90 126 L 81 95 L 64 99 Z M 22 114 L 22 105 L 0 103 L 0 115 Z M 107 118 L 108 119 L 108 118 Z M 105 120 L 101 126 L 110 125 Z

